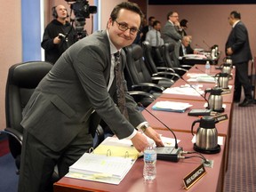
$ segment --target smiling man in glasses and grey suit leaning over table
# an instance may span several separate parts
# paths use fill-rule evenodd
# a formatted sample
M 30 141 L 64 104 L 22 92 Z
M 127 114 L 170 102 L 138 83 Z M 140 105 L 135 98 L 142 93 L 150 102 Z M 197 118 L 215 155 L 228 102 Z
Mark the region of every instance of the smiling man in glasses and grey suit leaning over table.
M 120 90 L 115 83 L 114 53 L 121 51 L 122 57 L 122 48 L 132 44 L 142 18 L 137 4 L 117 4 L 111 12 L 107 30 L 86 36 L 69 47 L 37 86 L 21 122 L 25 135 L 20 192 L 51 190 L 54 166 L 58 165 L 61 178 L 68 167 L 92 147 L 93 111 L 119 139 L 132 140 L 138 151 L 148 146 L 148 140 L 137 129 L 155 140 L 156 146 L 164 145 L 127 93 L 123 70 L 129 121 L 116 106 L 116 92 Z M 125 60 L 121 64 L 124 69 Z

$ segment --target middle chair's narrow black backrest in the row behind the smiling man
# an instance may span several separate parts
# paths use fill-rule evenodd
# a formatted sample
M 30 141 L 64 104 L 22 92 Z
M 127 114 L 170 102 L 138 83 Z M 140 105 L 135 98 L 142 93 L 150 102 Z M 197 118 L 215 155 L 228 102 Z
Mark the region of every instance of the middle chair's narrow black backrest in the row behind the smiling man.
M 145 64 L 150 72 L 150 74 L 157 73 L 156 63 L 152 57 L 152 46 L 149 44 L 148 41 L 142 42 L 142 50 Z

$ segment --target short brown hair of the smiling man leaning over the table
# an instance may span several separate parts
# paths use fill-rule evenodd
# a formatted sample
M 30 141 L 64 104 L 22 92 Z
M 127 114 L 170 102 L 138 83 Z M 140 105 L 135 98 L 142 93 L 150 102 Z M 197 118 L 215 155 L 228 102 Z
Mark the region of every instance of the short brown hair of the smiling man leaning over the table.
M 121 9 L 129 10 L 131 12 L 136 12 L 140 15 L 140 25 L 142 23 L 142 20 L 144 18 L 143 12 L 141 12 L 140 7 L 138 4 L 134 4 L 132 2 L 123 2 L 121 4 L 117 4 L 116 7 L 114 7 L 113 11 L 110 14 L 111 20 L 116 20 L 118 17 L 118 13 Z

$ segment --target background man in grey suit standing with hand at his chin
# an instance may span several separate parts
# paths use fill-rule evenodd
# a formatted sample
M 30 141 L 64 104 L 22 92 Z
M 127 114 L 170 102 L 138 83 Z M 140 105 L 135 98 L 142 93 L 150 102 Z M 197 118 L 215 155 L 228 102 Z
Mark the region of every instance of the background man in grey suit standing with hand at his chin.
M 182 28 L 180 28 L 179 14 L 178 12 L 168 12 L 167 21 L 163 29 L 163 39 L 164 43 L 172 43 L 175 45 L 173 60 L 176 65 L 180 65 L 179 54 L 180 54 L 180 44 L 181 44 L 181 33 Z

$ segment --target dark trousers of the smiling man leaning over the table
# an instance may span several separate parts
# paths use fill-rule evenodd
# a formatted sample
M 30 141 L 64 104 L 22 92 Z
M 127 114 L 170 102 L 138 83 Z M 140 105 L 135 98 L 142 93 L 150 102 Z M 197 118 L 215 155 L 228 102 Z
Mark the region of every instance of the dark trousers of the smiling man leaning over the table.
M 19 192 L 53 191 L 52 173 L 55 165 L 59 177 L 68 173 L 68 168 L 92 147 L 92 135 L 82 130 L 67 148 L 56 152 L 44 146 L 29 132 L 24 132 L 22 143 Z

